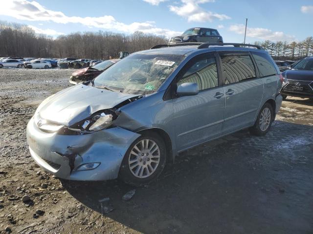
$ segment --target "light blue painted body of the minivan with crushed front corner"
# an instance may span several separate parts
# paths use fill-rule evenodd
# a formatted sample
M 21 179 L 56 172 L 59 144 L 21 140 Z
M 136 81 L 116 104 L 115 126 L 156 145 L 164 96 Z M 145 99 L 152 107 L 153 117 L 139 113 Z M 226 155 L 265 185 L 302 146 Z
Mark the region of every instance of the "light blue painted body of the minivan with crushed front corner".
M 265 102 L 275 103 L 275 114 L 281 107 L 282 97 L 279 91 L 282 83 L 276 65 L 277 75 L 260 78 L 257 74 L 256 78 L 242 82 L 227 85 L 219 83 L 218 87 L 202 90 L 193 96 L 164 97 L 179 71 L 195 56 L 204 53 L 218 56 L 220 52 L 253 51 L 268 55 L 262 50 L 225 46 L 207 49 L 177 46 L 137 52 L 184 55 L 185 59 L 155 93 L 143 95 L 125 105 L 118 106 L 138 95 L 117 93 L 83 84 L 47 98 L 38 107 L 35 115 L 63 126 L 71 126 L 95 112 L 114 109 L 116 106 L 118 117 L 109 129 L 73 136 L 43 132 L 33 117 L 27 125 L 27 142 L 31 156 L 46 171 L 61 178 L 106 180 L 118 176 L 127 149 L 144 130 L 157 129 L 167 135 L 174 159 L 179 152 L 186 149 L 251 127 Z M 222 74 L 219 76 L 223 78 Z M 220 96 L 216 97 L 217 94 Z M 74 155 L 72 168 L 69 166 L 68 155 Z M 77 171 L 82 164 L 89 162 L 99 162 L 100 166 L 93 170 Z M 53 163 L 61 167 L 56 170 L 52 167 Z

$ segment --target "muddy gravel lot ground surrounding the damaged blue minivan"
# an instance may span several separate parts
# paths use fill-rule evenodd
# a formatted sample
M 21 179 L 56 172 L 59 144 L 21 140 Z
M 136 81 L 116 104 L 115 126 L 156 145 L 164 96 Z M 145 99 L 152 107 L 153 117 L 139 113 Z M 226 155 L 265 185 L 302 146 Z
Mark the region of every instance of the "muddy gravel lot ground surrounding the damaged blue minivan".
M 189 150 L 154 183 L 63 182 L 37 168 L 26 124 L 73 70 L 0 69 L 0 233 L 313 234 L 313 102 L 288 98 L 265 137 Z M 30 201 L 22 202 L 28 195 Z M 114 210 L 103 214 L 99 199 Z M 103 208 L 103 207 L 102 207 Z M 36 212 L 38 214 L 36 214 Z M 103 215 L 102 215 L 103 214 Z

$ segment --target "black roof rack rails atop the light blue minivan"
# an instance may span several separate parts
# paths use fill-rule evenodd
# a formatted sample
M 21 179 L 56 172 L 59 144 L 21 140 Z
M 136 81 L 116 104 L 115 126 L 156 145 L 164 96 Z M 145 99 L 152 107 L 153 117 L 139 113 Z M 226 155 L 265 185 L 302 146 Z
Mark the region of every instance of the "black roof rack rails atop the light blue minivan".
M 259 45 L 252 45 L 252 44 L 243 44 L 243 43 L 201 43 L 201 42 L 184 42 L 184 43 L 177 43 L 177 44 L 160 44 L 151 47 L 150 49 L 157 49 L 162 47 L 172 47 L 172 46 L 184 46 L 184 45 L 198 45 L 198 49 L 209 48 L 210 46 L 224 46 L 224 45 L 233 45 L 234 47 L 240 46 L 248 46 L 248 47 L 255 47 L 258 50 L 264 50 L 262 46 Z

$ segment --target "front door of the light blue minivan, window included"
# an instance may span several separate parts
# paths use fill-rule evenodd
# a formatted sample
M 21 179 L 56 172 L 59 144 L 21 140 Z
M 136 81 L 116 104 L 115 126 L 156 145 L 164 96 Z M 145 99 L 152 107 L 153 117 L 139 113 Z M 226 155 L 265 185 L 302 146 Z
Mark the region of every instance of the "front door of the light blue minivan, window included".
M 197 83 L 199 94 L 173 100 L 177 150 L 182 151 L 221 134 L 224 89 L 214 53 L 191 59 L 176 78 L 177 86 Z

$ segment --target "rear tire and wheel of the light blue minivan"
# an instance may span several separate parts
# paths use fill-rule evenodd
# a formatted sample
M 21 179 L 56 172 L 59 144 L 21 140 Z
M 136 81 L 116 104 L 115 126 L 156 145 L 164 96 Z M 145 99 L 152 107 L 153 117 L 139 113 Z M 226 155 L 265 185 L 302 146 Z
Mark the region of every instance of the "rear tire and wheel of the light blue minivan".
M 273 107 L 271 104 L 265 103 L 264 106 L 261 108 L 254 125 L 249 128 L 250 134 L 255 136 L 266 135 L 270 129 L 270 126 L 272 125 L 273 120 L 274 120 Z

